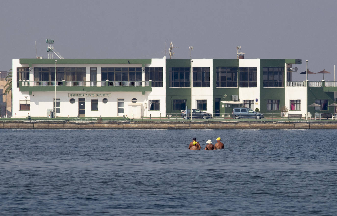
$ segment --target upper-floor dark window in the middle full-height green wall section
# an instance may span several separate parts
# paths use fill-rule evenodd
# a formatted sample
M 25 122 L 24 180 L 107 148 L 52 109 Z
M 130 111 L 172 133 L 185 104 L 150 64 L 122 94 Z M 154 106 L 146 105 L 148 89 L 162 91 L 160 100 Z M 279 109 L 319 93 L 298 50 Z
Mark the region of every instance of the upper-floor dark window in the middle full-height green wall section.
M 237 67 L 216 67 L 216 87 L 238 87 Z

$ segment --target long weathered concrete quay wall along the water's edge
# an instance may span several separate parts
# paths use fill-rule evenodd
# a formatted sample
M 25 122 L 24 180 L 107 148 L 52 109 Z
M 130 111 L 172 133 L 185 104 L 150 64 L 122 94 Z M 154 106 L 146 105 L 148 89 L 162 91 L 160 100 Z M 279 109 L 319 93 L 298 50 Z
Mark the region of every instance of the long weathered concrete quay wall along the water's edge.
M 0 129 L 337 129 L 337 121 L 3 121 Z

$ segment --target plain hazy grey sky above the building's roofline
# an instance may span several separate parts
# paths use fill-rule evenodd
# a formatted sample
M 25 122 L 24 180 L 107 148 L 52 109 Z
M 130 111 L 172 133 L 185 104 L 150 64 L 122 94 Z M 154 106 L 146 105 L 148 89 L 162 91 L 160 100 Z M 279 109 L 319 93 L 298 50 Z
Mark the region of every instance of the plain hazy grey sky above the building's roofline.
M 337 1 L 4 1 L 0 70 L 12 59 L 48 58 L 45 39 L 64 58 L 302 59 L 299 72 L 323 69 L 334 80 Z M 55 57 L 55 55 L 54 55 Z M 295 81 L 305 80 L 296 75 Z M 294 80 L 293 79 L 293 80 Z M 322 80 L 323 74 L 309 80 Z

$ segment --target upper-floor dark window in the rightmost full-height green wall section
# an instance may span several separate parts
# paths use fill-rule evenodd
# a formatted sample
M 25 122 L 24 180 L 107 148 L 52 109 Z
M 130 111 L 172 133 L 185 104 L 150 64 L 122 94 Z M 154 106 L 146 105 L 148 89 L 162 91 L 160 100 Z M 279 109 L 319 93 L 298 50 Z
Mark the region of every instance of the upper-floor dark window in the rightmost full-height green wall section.
M 263 87 L 283 87 L 284 67 L 263 67 Z

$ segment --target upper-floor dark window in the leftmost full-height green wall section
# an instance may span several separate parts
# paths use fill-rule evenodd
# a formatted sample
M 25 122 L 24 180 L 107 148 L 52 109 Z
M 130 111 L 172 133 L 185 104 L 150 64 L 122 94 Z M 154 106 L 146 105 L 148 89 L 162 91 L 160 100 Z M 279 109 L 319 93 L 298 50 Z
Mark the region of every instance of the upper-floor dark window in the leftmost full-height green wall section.
M 190 68 L 189 67 L 170 67 L 168 68 L 169 87 L 190 87 Z

